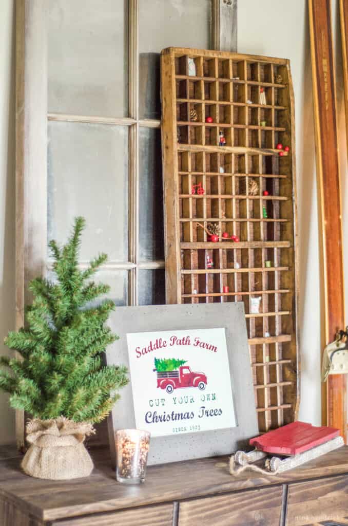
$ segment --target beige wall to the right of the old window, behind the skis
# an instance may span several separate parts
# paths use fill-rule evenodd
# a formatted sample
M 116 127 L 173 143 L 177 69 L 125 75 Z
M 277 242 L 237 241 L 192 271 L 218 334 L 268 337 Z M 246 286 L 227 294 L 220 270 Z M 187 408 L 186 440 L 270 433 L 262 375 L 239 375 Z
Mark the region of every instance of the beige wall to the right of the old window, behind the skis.
M 312 72 L 308 29 L 308 1 L 238 2 L 238 50 L 285 57 L 291 60 L 295 92 L 296 171 L 299 218 L 301 420 L 321 423 L 320 395 L 320 274 L 319 230 L 316 197 L 315 140 Z M 345 115 L 343 99 L 341 35 L 338 2 L 331 1 L 337 75 L 337 112 L 340 137 L 342 201 L 347 203 L 348 185 Z M 327 195 L 329 199 L 330 196 Z M 345 209 L 347 207 L 345 206 Z M 343 234 L 348 233 L 348 212 L 343 207 Z M 344 236 L 345 238 L 346 236 Z M 343 239 L 344 239 L 343 238 Z M 345 251 L 348 275 L 348 250 Z M 347 292 L 347 288 L 345 292 Z M 345 294 L 346 310 L 348 295 Z

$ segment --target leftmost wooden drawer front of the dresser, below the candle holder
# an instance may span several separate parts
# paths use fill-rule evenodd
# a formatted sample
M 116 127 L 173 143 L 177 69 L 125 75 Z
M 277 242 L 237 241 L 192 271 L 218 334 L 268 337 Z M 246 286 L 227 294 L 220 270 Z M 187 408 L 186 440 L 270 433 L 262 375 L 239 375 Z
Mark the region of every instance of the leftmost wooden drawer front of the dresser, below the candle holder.
M 53 522 L 52 526 L 172 526 L 173 506 L 151 506 Z

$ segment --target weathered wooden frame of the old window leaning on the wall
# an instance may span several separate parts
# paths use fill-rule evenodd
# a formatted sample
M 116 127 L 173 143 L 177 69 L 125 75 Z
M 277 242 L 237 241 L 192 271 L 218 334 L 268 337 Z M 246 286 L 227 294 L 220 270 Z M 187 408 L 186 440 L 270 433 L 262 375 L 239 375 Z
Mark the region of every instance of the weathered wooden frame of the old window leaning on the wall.
M 47 270 L 47 121 L 127 126 L 129 130 L 130 305 L 138 304 L 139 269 L 139 128 L 160 128 L 160 120 L 139 118 L 138 0 L 128 0 L 128 117 L 49 114 L 47 107 L 47 3 L 16 2 L 16 328 L 24 325 L 30 301 L 27 284 Z M 212 43 L 237 45 L 237 0 L 212 0 Z M 234 21 L 233 24 L 231 21 Z M 229 27 L 226 33 L 225 28 Z M 216 35 L 219 35 L 218 37 Z M 144 268 L 164 267 L 164 261 Z M 116 268 L 116 265 L 112 269 Z M 121 268 L 119 264 L 117 268 Z M 24 448 L 24 412 L 16 411 L 16 440 Z

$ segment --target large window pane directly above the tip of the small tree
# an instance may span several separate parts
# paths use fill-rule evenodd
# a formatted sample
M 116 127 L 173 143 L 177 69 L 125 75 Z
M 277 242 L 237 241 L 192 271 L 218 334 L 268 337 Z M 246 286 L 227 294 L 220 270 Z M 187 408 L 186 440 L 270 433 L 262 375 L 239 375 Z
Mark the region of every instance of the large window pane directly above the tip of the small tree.
M 50 122 L 48 138 L 48 239 L 64 242 L 84 216 L 81 260 L 127 261 L 128 129 Z

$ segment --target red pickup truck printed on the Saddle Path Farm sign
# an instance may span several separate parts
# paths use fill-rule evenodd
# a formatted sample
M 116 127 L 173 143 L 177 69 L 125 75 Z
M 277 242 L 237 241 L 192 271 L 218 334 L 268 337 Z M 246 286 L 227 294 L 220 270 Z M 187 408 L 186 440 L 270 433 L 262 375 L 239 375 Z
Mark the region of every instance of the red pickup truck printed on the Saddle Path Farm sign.
M 172 393 L 179 387 L 198 387 L 201 391 L 206 388 L 207 377 L 203 372 L 193 372 L 188 366 L 181 366 L 173 371 L 158 371 L 157 387 L 166 389 L 167 393 Z

